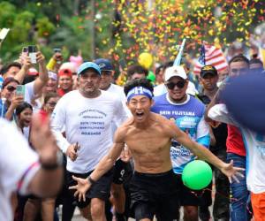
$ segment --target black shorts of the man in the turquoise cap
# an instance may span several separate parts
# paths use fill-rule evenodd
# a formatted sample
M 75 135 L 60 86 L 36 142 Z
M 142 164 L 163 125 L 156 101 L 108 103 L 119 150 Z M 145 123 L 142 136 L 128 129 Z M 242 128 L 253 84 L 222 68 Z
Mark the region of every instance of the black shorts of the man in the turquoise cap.
M 87 178 L 92 171 L 89 171 L 87 173 L 74 173 L 67 171 L 67 187 L 72 187 L 77 184 L 75 180 L 72 179 L 72 175 L 79 177 L 79 178 Z M 75 201 L 77 203 L 77 206 L 79 208 L 85 208 L 90 203 L 90 200 L 92 198 L 99 198 L 102 201 L 106 201 L 110 198 L 110 185 L 113 177 L 113 169 L 106 172 L 101 179 L 98 179 L 92 187 L 88 190 L 86 194 L 86 202 L 79 202 L 78 198 L 75 198 Z M 73 195 L 75 190 L 70 189 L 70 193 Z

